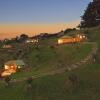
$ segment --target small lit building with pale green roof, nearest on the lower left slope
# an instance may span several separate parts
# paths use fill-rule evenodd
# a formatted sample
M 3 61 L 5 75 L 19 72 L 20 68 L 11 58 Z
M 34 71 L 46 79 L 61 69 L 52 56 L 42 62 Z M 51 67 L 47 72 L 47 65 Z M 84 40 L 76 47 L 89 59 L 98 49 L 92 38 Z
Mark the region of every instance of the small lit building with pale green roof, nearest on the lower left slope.
M 4 64 L 5 71 L 9 71 L 10 73 L 15 73 L 17 69 L 24 67 L 25 63 L 22 60 L 11 60 Z

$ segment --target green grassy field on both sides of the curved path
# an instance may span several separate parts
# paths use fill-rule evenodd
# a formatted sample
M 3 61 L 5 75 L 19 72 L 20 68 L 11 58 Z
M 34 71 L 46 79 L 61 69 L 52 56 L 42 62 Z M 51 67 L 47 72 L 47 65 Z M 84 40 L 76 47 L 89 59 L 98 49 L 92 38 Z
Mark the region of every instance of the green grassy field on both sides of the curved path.
M 92 45 L 88 43 L 48 46 L 34 48 L 26 58 L 30 61 L 29 72 L 19 72 L 11 77 L 20 79 L 36 76 L 33 79 L 32 90 L 26 91 L 26 81 L 11 83 L 9 87 L 0 83 L 1 100 L 99 100 L 100 99 L 100 30 L 88 29 L 89 38 L 98 45 L 96 62 L 90 59 L 79 68 L 63 73 L 45 75 L 67 67 L 85 58 L 91 52 Z M 46 41 L 46 40 L 45 40 Z M 75 74 L 78 83 L 74 86 L 69 81 L 69 75 Z M 40 76 L 38 78 L 37 76 Z

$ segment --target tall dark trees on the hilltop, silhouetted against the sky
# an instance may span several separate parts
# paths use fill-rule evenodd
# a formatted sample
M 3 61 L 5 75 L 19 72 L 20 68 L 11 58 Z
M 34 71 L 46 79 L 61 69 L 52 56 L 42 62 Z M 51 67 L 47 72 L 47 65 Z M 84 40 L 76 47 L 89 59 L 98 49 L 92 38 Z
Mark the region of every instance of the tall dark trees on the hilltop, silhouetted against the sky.
M 90 2 L 81 17 L 80 28 L 94 27 L 100 25 L 100 0 Z

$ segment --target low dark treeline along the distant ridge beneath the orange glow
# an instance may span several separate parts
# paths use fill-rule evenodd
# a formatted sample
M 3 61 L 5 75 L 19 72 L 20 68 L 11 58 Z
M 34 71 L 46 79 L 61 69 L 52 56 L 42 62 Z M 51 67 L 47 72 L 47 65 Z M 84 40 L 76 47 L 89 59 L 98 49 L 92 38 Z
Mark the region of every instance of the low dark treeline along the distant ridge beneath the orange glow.
M 35 35 L 33 37 L 29 37 L 27 34 L 21 34 L 20 36 L 16 36 L 15 38 L 12 39 L 4 39 L 2 41 L 0 41 L 0 47 L 2 47 L 3 45 L 13 45 L 15 43 L 23 43 L 25 42 L 27 39 L 29 38 L 38 38 L 38 39 L 48 39 L 48 38 L 57 38 L 57 37 L 61 37 L 67 33 L 69 33 L 70 31 L 74 31 L 76 30 L 75 28 L 67 28 L 65 30 L 62 30 L 60 32 L 54 33 L 54 34 L 49 34 L 49 33 L 40 33 L 38 35 Z

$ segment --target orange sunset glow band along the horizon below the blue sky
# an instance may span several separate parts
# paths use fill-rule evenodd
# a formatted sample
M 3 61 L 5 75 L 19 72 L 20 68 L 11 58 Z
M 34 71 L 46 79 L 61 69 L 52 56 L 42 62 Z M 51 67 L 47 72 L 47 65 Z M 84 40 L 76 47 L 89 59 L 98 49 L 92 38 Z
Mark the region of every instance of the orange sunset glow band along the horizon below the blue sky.
M 74 28 L 79 23 L 80 20 L 58 24 L 0 24 L 0 39 L 13 38 L 22 33 L 29 36 L 39 33 L 56 33 L 67 28 Z

